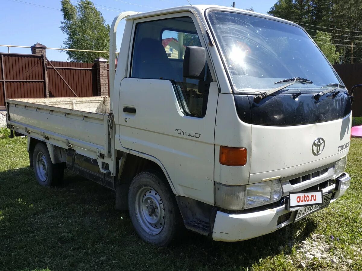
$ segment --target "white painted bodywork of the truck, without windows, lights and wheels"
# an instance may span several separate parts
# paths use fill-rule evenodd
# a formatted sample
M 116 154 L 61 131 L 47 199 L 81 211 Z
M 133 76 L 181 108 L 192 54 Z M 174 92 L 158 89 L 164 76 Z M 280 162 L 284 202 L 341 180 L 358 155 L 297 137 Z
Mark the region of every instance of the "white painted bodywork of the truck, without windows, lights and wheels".
M 323 94 L 329 97 L 323 100 L 326 105 L 329 103 L 326 108 L 336 107 L 332 109 L 323 108 L 322 100 L 312 99 L 312 94 L 321 90 L 302 90 L 300 93 L 296 90 L 291 94 L 296 93 L 300 96 L 288 98 L 294 101 L 293 103 L 298 103 L 295 109 L 288 109 L 285 102 L 279 101 L 271 107 L 278 112 L 270 112 L 271 117 L 268 119 L 258 118 L 260 114 L 265 113 L 264 111 L 253 113 L 253 110 L 259 107 L 256 103 L 250 102 L 250 108 L 244 110 L 242 99 L 245 101 L 261 91 L 235 90 L 234 80 L 245 75 L 238 75 L 239 77 L 232 79 L 232 73 L 235 71 L 231 68 L 229 70 L 228 67 L 231 65 L 226 64 L 228 60 L 223 51 L 222 40 L 218 38 L 215 30 L 217 24 L 213 25 L 212 20 L 215 19 L 208 15 L 212 12 L 249 16 L 245 17 L 245 20 L 273 20 L 273 23 L 298 27 L 298 31 L 301 29 L 294 23 L 263 14 L 207 5 L 147 13 L 121 13 L 111 26 L 112 52 L 115 51 L 118 22 L 126 18 L 117 71 L 114 65 L 110 65 L 110 98 L 8 99 L 8 127 L 28 135 L 29 151 L 32 139 L 46 142 L 53 163 L 64 163 L 66 158 L 52 153 L 54 151 L 51 150 L 51 146 L 62 148 L 64 152 L 72 149 L 77 154 L 97 159 L 100 172 L 110 176 L 114 182 L 113 185 L 106 185 L 112 189 L 117 187 L 117 182 L 122 180 L 123 173 L 127 171 L 127 168 L 123 168 L 127 155 L 152 162 L 164 174 L 176 195 L 186 227 L 209 235 L 214 240 L 246 240 L 292 223 L 298 211 L 302 210 L 302 207 L 292 209 L 287 206 L 288 196 L 293 192 L 315 188 L 322 191 L 323 195 L 333 192 L 329 200 L 335 201 L 348 188 L 348 185 L 340 186 L 341 183 L 349 184 L 350 181 L 349 175 L 344 172 L 345 164 L 344 167 L 339 165 L 345 163 L 349 151 L 352 113 L 349 98 L 345 98 L 348 97 L 348 92 L 343 92 L 341 87 L 341 93 L 338 94 L 338 91 L 336 96 Z M 218 16 L 222 16 L 222 13 L 220 14 Z M 147 25 L 148 22 L 150 25 Z M 157 31 L 165 28 L 162 22 L 170 22 L 167 29 L 179 31 L 186 29 L 193 22 L 193 30 L 186 29 L 185 33 L 198 35 L 199 46 L 205 48 L 206 67 L 209 72 L 209 75 L 205 72 L 205 78 L 209 76 L 210 82 L 207 91 L 191 94 L 192 97 L 206 97 L 207 107 L 206 110 L 202 109 L 202 114 L 192 113 L 187 109 L 185 113 L 173 80 L 167 80 L 167 77 L 162 76 L 142 78 L 132 75 L 140 74 L 145 69 L 136 70 L 132 67 L 132 63 L 137 63 L 139 55 L 142 55 L 142 50 L 135 48 L 138 46 L 135 45 L 138 43 L 138 35 L 146 35 L 143 38 L 148 39 L 148 46 L 152 48 L 153 39 L 150 37 L 159 35 Z M 305 36 L 311 40 L 307 34 Z M 159 39 L 163 39 L 162 34 Z M 178 40 L 181 43 L 179 37 Z M 316 47 L 312 40 L 310 44 Z M 182 46 L 178 49 L 180 48 L 182 49 Z M 316 53 L 324 57 L 318 49 L 316 50 Z M 250 51 L 252 50 L 248 52 Z M 182 61 L 184 56 L 180 53 L 179 56 L 177 61 Z M 143 57 L 143 62 L 147 63 L 149 56 Z M 169 56 L 169 59 L 173 61 L 172 56 Z M 332 66 L 325 61 L 326 64 L 323 65 L 328 67 L 342 85 Z M 110 54 L 110 63 L 114 63 L 113 54 Z M 160 69 L 163 69 L 162 66 L 159 64 Z M 333 82 L 327 81 L 325 84 L 328 83 Z M 294 86 L 297 84 L 300 83 Z M 186 88 L 186 91 L 188 90 Z M 278 97 L 284 96 L 280 94 L 267 97 L 266 102 L 260 104 L 272 103 L 273 99 L 277 101 Z M 334 103 L 334 98 L 336 101 L 340 99 L 336 102 L 338 105 L 330 104 Z M 190 99 L 189 106 L 192 107 L 192 103 L 200 104 L 200 99 Z M 305 102 L 301 104 L 303 99 Z M 311 105 L 315 106 L 316 111 L 309 108 Z M 299 115 L 291 119 L 288 114 L 299 112 L 303 106 L 303 112 L 310 117 L 300 117 L 305 123 L 296 123 L 295 119 L 298 119 Z M 344 111 L 334 116 L 333 110 Z M 252 117 L 245 119 L 248 115 Z M 323 119 L 324 116 L 327 118 L 330 115 L 333 115 L 330 119 Z M 280 120 L 285 123 L 278 124 Z M 220 163 L 219 158 L 224 146 L 246 149 L 245 164 L 231 166 Z M 343 168 L 341 172 L 338 171 L 338 176 L 342 177 L 336 176 L 339 167 Z M 234 191 L 235 188 L 236 191 L 240 188 L 242 195 L 245 189 L 257 187 L 253 186 L 254 184 L 273 181 L 282 189 L 278 201 L 255 205 L 254 208 L 243 206 L 228 209 L 225 207 L 228 203 L 225 202 L 235 198 L 234 192 L 225 192 L 222 196 L 217 194 L 220 193 L 219 189 Z M 224 203 L 220 203 L 220 198 Z M 185 202 L 195 207 L 190 207 L 191 211 L 188 210 L 192 213 L 191 218 L 182 210 Z

